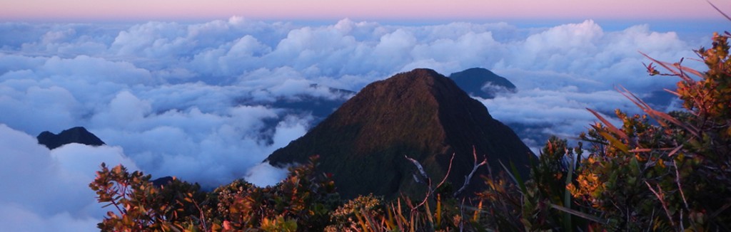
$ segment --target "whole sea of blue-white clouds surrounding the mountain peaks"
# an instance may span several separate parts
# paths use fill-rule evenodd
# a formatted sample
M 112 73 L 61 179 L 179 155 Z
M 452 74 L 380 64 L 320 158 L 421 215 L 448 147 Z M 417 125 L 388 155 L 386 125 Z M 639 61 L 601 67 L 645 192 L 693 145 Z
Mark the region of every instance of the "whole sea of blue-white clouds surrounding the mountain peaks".
M 88 183 L 99 164 L 204 187 L 284 171 L 260 165 L 306 133 L 314 117 L 266 103 L 357 91 L 401 71 L 448 75 L 485 67 L 518 93 L 480 99 L 491 115 L 537 134 L 570 138 L 594 116 L 637 112 L 614 88 L 640 96 L 673 88 L 647 77 L 638 51 L 695 58 L 710 41 L 648 25 L 606 31 L 592 20 L 552 27 L 509 23 L 330 25 L 244 18 L 206 23 L 0 23 L 0 225 L 9 231 L 94 231 L 107 209 Z M 686 64 L 697 66 L 693 62 Z M 317 86 L 311 84 L 319 84 Z M 84 126 L 107 143 L 48 150 L 34 138 Z M 262 136 L 265 134 L 265 136 Z M 542 141 L 524 141 L 540 146 Z

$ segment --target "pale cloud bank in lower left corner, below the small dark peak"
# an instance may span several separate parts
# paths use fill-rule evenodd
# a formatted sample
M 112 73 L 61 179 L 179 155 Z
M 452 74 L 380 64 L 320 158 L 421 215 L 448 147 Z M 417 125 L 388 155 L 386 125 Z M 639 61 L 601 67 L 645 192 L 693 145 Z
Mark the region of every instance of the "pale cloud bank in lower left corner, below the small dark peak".
M 104 210 L 88 184 L 102 162 L 137 170 L 121 147 L 55 150 L 0 124 L 0 224 L 9 231 L 94 231 Z

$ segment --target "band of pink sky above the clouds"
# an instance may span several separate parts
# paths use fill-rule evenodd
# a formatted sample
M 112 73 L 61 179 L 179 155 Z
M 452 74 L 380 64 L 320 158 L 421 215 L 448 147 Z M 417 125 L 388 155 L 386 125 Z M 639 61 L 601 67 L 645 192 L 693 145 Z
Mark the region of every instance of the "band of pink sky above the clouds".
M 711 0 L 731 13 L 731 1 Z M 0 20 L 715 19 L 703 0 L 2 0 Z

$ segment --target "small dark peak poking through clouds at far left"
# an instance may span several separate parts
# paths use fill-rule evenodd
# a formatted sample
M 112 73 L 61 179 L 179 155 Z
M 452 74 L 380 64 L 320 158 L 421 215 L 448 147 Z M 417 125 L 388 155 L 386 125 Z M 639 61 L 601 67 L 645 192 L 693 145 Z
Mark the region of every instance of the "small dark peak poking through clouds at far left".
M 92 146 L 101 146 L 105 144 L 102 142 L 102 139 L 99 139 L 99 137 L 91 134 L 91 132 L 86 131 L 86 128 L 83 127 L 70 128 L 68 130 L 61 131 L 58 135 L 50 133 L 49 131 L 43 131 L 36 138 L 38 139 L 38 144 L 43 144 L 50 150 L 70 143 Z

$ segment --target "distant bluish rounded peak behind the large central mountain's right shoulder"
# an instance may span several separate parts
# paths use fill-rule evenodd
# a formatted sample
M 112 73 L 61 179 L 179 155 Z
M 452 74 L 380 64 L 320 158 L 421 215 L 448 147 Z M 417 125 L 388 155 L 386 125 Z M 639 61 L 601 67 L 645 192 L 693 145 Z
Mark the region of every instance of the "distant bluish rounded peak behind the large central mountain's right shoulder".
M 515 85 L 505 77 L 500 77 L 488 69 L 471 68 L 450 74 L 457 86 L 471 96 L 495 98 L 498 93 L 515 93 Z

